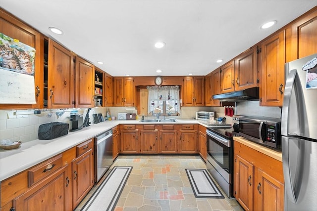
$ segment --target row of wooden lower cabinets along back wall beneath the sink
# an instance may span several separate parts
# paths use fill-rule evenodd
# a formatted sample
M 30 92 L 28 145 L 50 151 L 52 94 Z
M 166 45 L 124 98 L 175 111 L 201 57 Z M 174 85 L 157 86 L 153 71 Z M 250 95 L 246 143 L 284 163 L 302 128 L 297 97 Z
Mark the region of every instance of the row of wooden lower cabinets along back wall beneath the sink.
M 197 153 L 197 124 L 120 126 L 122 154 Z

